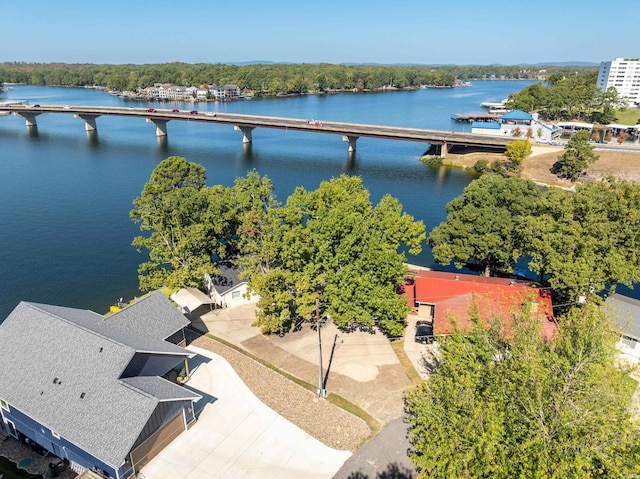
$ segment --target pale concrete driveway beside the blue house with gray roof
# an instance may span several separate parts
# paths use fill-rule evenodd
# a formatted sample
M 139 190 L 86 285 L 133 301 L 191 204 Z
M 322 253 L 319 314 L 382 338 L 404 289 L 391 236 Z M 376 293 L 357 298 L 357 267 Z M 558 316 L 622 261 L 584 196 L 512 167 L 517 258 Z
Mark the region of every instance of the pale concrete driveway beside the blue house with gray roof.
M 203 394 L 196 424 L 142 469 L 145 479 L 331 478 L 351 456 L 260 402 L 221 357 L 199 356 L 188 387 Z

